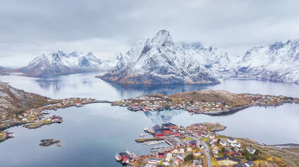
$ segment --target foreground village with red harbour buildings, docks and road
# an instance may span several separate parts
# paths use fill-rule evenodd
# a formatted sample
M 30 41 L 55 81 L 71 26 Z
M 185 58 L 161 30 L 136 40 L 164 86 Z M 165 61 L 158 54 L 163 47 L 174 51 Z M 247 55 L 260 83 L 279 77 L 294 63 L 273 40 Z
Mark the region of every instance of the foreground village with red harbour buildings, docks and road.
M 152 138 L 140 138 L 136 142 L 154 146 L 164 141 L 168 146 L 155 146 L 157 151 L 141 156 L 127 150 L 117 153 L 115 158 L 123 165 L 134 167 L 257 167 L 258 162 L 270 158 L 279 161 L 257 150 L 257 143 L 217 135 L 214 131 L 219 129 L 223 129 L 219 123 L 178 127 L 169 122 L 146 127 L 144 131 Z

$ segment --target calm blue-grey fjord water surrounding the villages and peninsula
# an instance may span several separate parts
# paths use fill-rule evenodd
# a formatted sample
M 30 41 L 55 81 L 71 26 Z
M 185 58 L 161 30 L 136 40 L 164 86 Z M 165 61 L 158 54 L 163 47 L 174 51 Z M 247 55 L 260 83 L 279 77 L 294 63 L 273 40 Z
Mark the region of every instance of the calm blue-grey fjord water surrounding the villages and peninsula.
M 299 85 L 258 79 L 222 79 L 221 84 L 121 85 L 106 83 L 94 76 L 76 74 L 52 78 L 0 76 L 11 86 L 51 98 L 91 97 L 119 100 L 142 94 L 172 94 L 184 91 L 223 89 L 234 93 L 284 94 L 299 96 Z M 219 134 L 247 137 L 265 144 L 299 143 L 299 105 L 251 107 L 221 116 L 189 115 L 183 110 L 131 112 L 110 104 L 88 104 L 51 114 L 63 123 L 28 130 L 13 127 L 15 138 L 0 143 L 1 167 L 119 167 L 116 152 L 130 149 L 137 155 L 149 153 L 150 146 L 134 140 L 145 126 L 164 122 L 189 125 L 195 122 L 220 122 L 228 128 Z M 51 115 L 50 114 L 50 115 Z M 40 147 L 39 140 L 53 138 L 61 147 Z

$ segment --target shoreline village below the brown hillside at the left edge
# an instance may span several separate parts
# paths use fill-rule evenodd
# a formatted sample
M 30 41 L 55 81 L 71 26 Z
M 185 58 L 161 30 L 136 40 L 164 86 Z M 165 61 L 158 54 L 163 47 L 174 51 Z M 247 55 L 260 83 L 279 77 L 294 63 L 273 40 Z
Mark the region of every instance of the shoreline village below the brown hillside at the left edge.
M 30 110 L 21 110 L 17 112 L 13 118 L 2 120 L 0 122 L 0 141 L 4 141 L 15 136 L 13 132 L 8 132 L 8 130 L 4 131 L 12 126 L 23 125 L 23 127 L 34 129 L 43 125 L 50 125 L 52 123 L 62 123 L 63 118 L 58 115 L 47 116 L 59 108 L 72 106 L 82 107 L 84 104 L 107 102 L 91 98 L 65 98 L 60 100 L 48 98 L 47 101 L 48 104 L 45 104 L 44 106 Z

